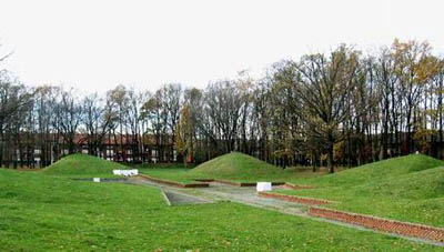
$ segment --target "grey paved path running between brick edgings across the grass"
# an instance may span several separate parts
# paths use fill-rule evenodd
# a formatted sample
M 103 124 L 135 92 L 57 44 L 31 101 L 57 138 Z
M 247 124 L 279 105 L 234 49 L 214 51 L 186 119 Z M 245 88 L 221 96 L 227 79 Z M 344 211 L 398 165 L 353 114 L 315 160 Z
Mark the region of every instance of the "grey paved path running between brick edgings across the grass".
M 255 208 L 262 208 L 262 209 L 273 210 L 273 211 L 278 211 L 278 212 L 282 212 L 282 213 L 286 213 L 286 214 L 310 218 L 312 220 L 316 220 L 316 221 L 321 221 L 321 222 L 327 222 L 327 223 L 333 223 L 333 224 L 337 224 L 337 225 L 342 225 L 342 226 L 349 226 L 349 228 L 353 228 L 353 229 L 357 229 L 357 230 L 382 233 L 382 232 L 379 232 L 379 231 L 375 231 L 372 229 L 366 229 L 366 228 L 363 228 L 360 225 L 347 224 L 344 222 L 310 216 L 306 213 L 307 212 L 306 205 L 295 203 L 295 202 L 281 201 L 281 200 L 276 200 L 276 199 L 261 198 L 258 195 L 255 187 L 239 188 L 239 187 L 226 185 L 226 184 L 222 184 L 222 183 L 218 183 L 218 182 L 211 182 L 209 188 L 180 189 L 180 188 L 173 188 L 173 187 L 155 183 L 155 182 L 145 180 L 143 178 L 138 178 L 138 177 L 130 178 L 127 181 L 127 183 L 158 188 L 158 189 L 162 190 L 167 195 L 173 194 L 178 199 L 179 203 L 176 203 L 176 204 L 205 203 L 205 202 L 213 203 L 213 202 L 218 202 L 218 201 L 232 201 L 232 202 L 238 202 L 241 204 L 246 204 L 246 205 L 251 205 L 251 206 L 255 206 Z M 273 188 L 275 188 L 275 187 L 273 187 Z M 193 199 L 194 199 L 194 201 L 193 201 Z M 172 203 L 172 204 L 174 205 L 174 203 Z M 434 241 L 428 241 L 428 240 L 423 240 L 423 239 L 417 239 L 417 238 L 404 236 L 404 235 L 398 235 L 395 233 L 383 233 L 383 234 L 396 236 L 396 238 L 403 238 L 403 239 L 407 239 L 407 240 L 415 241 L 415 242 L 422 242 L 422 243 L 444 246 L 444 243 L 442 243 L 442 242 L 434 242 Z

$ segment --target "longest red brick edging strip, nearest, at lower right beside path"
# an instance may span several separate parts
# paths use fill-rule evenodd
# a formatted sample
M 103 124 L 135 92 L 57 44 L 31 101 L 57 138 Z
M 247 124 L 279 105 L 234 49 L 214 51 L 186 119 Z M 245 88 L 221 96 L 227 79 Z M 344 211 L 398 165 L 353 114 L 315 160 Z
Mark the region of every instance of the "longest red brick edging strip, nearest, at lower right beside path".
M 380 231 L 397 233 L 406 236 L 415 236 L 438 242 L 444 242 L 444 229 L 431 225 L 422 225 L 410 222 L 401 222 L 382 219 L 372 215 L 343 212 L 324 208 L 310 208 L 309 215 L 319 216 L 351 224 L 357 224 Z

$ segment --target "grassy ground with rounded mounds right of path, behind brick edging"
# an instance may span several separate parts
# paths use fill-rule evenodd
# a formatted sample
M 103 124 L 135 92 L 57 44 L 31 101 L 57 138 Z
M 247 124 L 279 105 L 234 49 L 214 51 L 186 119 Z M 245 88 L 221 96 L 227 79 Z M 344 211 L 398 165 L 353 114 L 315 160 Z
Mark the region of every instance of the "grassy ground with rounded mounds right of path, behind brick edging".
M 443 165 L 440 160 L 411 154 L 336 174 L 293 179 L 316 189 L 279 192 L 337 201 L 326 208 L 443 228 Z

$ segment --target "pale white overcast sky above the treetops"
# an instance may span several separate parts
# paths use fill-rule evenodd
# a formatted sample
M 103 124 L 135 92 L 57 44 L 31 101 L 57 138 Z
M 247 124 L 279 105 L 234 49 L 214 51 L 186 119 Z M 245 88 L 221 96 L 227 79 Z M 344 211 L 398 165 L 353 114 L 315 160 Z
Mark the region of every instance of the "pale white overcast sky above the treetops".
M 443 53 L 443 2 L 2 0 L 0 52 L 14 53 L 0 68 L 30 85 L 103 92 L 120 83 L 203 88 L 342 42 L 372 50 L 394 38 L 428 40 Z

